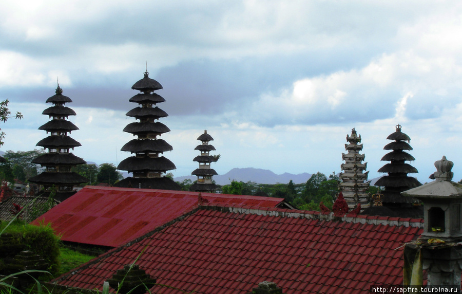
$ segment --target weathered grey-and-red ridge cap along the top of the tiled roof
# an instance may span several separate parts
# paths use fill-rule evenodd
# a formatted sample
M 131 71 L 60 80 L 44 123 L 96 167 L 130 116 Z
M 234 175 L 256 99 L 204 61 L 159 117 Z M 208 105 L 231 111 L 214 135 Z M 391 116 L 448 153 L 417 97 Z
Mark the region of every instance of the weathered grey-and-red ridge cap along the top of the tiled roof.
M 353 224 L 371 224 L 371 225 L 388 225 L 388 226 L 402 226 L 413 228 L 424 228 L 423 218 L 409 218 L 409 217 L 390 217 L 390 216 L 377 216 L 377 215 L 362 215 L 362 214 L 345 214 L 343 216 L 335 216 L 331 213 L 321 213 L 319 211 L 308 210 L 293 210 L 283 208 L 255 208 L 255 207 L 233 207 L 230 205 L 217 205 L 203 203 L 199 205 L 201 210 L 216 210 L 221 212 L 231 212 L 239 214 L 257 214 L 264 216 L 279 216 L 279 217 L 293 217 L 293 218 L 307 218 L 319 219 L 334 222 L 344 222 Z

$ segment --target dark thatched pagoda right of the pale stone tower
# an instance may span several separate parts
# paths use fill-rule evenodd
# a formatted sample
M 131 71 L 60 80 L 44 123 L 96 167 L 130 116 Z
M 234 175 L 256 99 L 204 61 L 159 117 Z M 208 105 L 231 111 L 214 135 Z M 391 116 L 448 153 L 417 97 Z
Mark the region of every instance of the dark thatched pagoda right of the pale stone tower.
M 396 132 L 388 136 L 387 139 L 394 140 L 394 142 L 384 146 L 384 150 L 391 150 L 391 152 L 384 155 L 381 161 L 390 161 L 390 163 L 385 164 L 378 172 L 388 173 L 388 175 L 375 182 L 375 186 L 384 187 L 381 202 L 384 207 L 394 211 L 397 216 L 421 218 L 423 217 L 423 210 L 418 205 L 420 201 L 413 197 L 401 195 L 403 191 L 422 185 L 416 178 L 408 176 L 408 173 L 418 173 L 416 168 L 406 163 L 406 161 L 415 160 L 414 156 L 406 152 L 412 150 L 408 143 L 411 138 L 401 132 L 401 125 L 398 124 Z

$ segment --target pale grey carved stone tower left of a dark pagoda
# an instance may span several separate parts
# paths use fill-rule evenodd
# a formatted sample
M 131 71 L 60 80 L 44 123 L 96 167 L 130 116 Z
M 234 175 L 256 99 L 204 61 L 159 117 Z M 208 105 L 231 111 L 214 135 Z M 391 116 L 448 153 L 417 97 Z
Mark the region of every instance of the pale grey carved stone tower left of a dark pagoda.
M 347 135 L 348 144 L 345 144 L 347 154 L 342 153 L 342 163 L 340 168 L 343 173 L 340 173 L 340 190 L 343 194 L 348 207 L 354 209 L 360 204 L 361 210 L 366 209 L 370 205 L 369 199 L 369 182 L 367 169 L 368 163 L 362 161 L 365 158 L 364 154 L 359 152 L 362 150 L 361 135 L 358 136 L 353 128 L 351 136 Z

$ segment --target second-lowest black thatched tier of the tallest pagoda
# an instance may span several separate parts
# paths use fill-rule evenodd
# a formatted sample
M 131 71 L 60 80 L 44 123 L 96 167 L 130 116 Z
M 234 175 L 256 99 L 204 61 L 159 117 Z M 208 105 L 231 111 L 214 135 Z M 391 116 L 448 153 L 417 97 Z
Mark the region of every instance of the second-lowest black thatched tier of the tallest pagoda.
M 130 172 L 166 172 L 175 170 L 177 167 L 169 159 L 161 156 L 156 158 L 151 157 L 135 157 L 125 158 L 119 163 L 117 169 Z

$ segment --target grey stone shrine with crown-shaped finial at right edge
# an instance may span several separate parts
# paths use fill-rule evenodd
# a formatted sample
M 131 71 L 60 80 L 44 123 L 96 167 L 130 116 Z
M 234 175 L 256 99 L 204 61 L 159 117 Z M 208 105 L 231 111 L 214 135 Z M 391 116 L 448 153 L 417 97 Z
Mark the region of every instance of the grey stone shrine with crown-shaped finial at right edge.
M 428 285 L 457 287 L 460 290 L 462 274 L 462 185 L 453 182 L 453 162 L 446 159 L 435 162 L 435 180 L 401 194 L 424 202 L 424 232 L 417 242 L 407 244 L 407 249 L 416 252 L 427 270 Z M 415 282 L 410 282 L 413 284 Z

